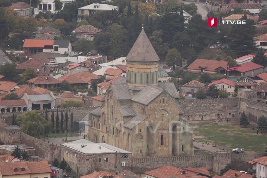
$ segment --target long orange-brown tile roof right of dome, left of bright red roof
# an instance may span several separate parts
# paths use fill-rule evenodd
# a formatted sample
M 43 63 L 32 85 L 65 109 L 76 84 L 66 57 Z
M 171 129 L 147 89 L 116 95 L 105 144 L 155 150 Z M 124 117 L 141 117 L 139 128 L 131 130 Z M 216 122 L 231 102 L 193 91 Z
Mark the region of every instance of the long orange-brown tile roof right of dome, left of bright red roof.
M 222 67 L 223 69 L 227 69 L 226 61 L 215 61 L 215 60 L 207 60 L 207 59 L 196 59 L 192 64 L 190 64 L 187 69 L 195 69 L 198 70 L 199 67 L 205 69 L 207 71 L 215 72 L 217 68 Z

